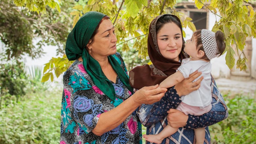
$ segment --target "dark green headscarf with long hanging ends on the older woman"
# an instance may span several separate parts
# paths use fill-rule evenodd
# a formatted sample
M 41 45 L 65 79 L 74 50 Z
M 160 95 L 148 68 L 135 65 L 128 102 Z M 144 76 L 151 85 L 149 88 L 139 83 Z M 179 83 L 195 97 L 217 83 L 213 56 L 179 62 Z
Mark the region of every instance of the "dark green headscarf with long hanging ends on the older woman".
M 84 69 L 91 76 L 94 84 L 114 101 L 116 98 L 114 86 L 102 72 L 98 61 L 85 49 L 97 25 L 104 16 L 106 15 L 96 11 L 85 13 L 77 21 L 74 29 L 69 33 L 65 52 L 70 61 L 76 60 L 82 56 Z M 108 56 L 108 60 L 123 84 L 129 91 L 134 93 L 133 88 L 129 84 L 128 76 L 118 64 L 117 60 L 112 55 Z

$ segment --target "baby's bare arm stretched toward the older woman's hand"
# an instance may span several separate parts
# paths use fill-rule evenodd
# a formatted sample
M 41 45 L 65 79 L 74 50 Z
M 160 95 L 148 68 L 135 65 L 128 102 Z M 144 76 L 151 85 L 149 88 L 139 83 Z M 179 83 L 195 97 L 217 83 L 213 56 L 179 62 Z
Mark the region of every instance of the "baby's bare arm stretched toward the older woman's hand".
M 183 79 L 183 74 L 180 71 L 177 71 L 174 74 L 168 76 L 164 81 L 162 81 L 159 85 L 159 88 L 170 88 L 181 82 Z

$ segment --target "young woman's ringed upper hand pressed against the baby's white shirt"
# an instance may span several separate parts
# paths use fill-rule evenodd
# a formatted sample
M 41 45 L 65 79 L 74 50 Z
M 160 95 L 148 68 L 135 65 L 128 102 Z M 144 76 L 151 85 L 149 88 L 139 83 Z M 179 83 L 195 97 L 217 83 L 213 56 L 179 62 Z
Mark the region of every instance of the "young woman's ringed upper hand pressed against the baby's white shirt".
M 189 75 L 188 78 L 185 78 L 180 83 L 176 84 L 175 89 L 179 96 L 187 95 L 195 90 L 198 90 L 200 87 L 200 83 L 203 80 L 203 76 L 195 82 L 193 82 L 193 80 L 199 77 L 201 74 L 202 72 L 193 72 Z

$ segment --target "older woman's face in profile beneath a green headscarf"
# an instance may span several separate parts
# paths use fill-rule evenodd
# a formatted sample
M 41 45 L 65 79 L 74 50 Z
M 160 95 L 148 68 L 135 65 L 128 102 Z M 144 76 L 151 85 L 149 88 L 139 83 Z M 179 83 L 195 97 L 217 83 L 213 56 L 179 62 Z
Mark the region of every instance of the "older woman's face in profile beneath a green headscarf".
M 95 57 L 109 56 L 117 52 L 117 37 L 115 28 L 109 19 L 103 20 L 98 28 L 98 32 L 94 36 L 91 45 L 87 45 L 91 49 L 91 55 Z

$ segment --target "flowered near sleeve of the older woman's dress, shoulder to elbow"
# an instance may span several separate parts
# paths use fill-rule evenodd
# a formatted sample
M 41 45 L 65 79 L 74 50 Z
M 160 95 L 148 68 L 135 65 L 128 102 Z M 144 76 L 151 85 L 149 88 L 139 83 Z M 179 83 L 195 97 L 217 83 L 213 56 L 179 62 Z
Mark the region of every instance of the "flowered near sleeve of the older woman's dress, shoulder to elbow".
M 66 131 L 73 132 L 77 123 L 85 133 L 90 133 L 97 124 L 99 114 L 104 112 L 97 96 L 102 92 L 87 80 L 82 64 L 78 68 L 82 69 L 81 72 L 71 67 L 63 76 L 63 124 L 67 127 Z

